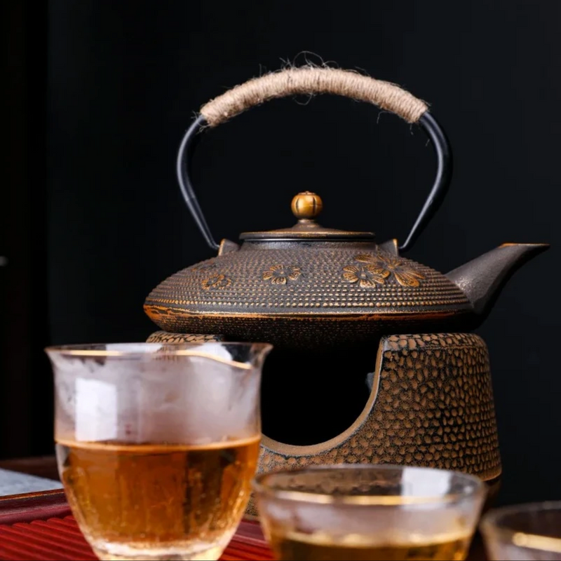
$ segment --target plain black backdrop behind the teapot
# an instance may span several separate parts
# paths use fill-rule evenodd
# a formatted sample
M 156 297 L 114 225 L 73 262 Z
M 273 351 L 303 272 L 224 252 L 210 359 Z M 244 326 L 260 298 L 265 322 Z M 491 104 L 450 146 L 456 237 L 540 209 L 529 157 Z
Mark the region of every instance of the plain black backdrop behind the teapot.
M 36 113 L 26 126 L 46 141 L 37 147 L 29 133 L 21 144 L 29 176 L 20 188 L 36 201 L 18 207 L 37 228 L 22 246 L 35 263 L 26 276 L 35 361 L 21 373 L 25 445 L 5 436 L 4 455 L 50 451 L 43 342 L 144 340 L 154 330 L 147 293 L 212 255 L 174 176 L 194 112 L 283 60 L 305 62 L 306 50 L 403 85 L 450 136 L 450 195 L 408 256 L 446 272 L 502 242 L 553 245 L 513 277 L 480 334 L 492 360 L 501 501 L 561 499 L 560 3 L 51 0 L 44 13 L 27 6 L 22 21 L 32 83 L 22 90 Z M 347 99 L 302 101 L 276 100 L 205 134 L 194 179 L 215 237 L 291 226 L 290 200 L 307 189 L 323 198 L 325 226 L 403 240 L 432 181 L 424 134 Z M 335 384 L 344 373 L 309 375 Z

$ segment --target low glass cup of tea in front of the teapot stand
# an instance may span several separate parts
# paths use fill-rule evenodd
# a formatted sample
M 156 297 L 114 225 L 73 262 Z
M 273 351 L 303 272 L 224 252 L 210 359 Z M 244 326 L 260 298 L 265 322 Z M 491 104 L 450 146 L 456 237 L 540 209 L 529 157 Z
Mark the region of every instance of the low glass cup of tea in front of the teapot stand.
M 485 486 L 473 476 L 403 466 L 337 465 L 254 482 L 280 560 L 462 560 Z

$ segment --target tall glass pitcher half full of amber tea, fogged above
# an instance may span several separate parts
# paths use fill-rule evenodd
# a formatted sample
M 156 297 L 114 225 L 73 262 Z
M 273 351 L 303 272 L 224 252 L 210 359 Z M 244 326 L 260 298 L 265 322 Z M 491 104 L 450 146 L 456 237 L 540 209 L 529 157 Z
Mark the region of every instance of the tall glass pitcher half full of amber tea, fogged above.
M 58 469 L 105 560 L 217 560 L 250 497 L 270 345 L 50 347 Z

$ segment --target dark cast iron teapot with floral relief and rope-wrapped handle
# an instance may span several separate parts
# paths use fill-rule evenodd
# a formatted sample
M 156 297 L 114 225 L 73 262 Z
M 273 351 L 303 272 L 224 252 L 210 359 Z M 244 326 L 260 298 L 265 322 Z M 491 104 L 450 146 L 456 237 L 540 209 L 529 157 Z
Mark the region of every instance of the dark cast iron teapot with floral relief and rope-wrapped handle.
M 371 102 L 418 123 L 437 157 L 436 178 L 421 213 L 398 246 L 370 232 L 323 228 L 314 193 L 292 200 L 292 228 L 248 232 L 241 246 L 213 239 L 189 179 L 197 133 L 272 97 L 336 93 Z M 387 333 L 470 331 L 485 319 L 508 277 L 548 244 L 503 244 L 443 275 L 403 257 L 440 206 L 452 175 L 445 133 L 426 104 L 398 86 L 335 69 L 289 69 L 255 78 L 203 106 L 177 159 L 185 201 L 214 258 L 165 279 L 144 310 L 170 333 L 220 334 L 277 347 L 375 342 Z

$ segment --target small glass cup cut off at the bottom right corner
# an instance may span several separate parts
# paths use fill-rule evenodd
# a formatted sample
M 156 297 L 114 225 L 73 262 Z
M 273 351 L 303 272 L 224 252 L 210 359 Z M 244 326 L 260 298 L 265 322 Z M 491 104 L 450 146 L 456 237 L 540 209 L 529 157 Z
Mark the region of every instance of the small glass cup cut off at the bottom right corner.
M 496 508 L 481 533 L 489 559 L 561 560 L 561 502 Z

